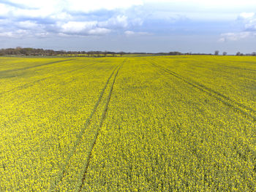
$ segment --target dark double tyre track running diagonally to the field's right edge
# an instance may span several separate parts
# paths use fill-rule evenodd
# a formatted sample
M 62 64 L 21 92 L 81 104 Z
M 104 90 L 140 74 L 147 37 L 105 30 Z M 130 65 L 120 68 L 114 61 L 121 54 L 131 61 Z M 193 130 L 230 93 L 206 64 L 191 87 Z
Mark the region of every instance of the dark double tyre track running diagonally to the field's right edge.
M 199 89 L 200 91 L 203 91 L 204 93 L 207 93 L 208 96 L 212 96 L 218 101 L 221 101 L 223 104 L 227 105 L 227 107 L 232 108 L 236 112 L 240 112 L 241 114 L 245 115 L 247 118 L 251 118 L 252 120 L 256 121 L 256 111 L 253 110 L 251 107 L 247 107 L 244 104 L 238 103 L 237 101 L 233 101 L 233 99 L 230 99 L 228 96 L 223 95 L 222 93 L 219 93 L 217 91 L 212 90 L 211 88 L 206 87 L 205 85 L 200 84 L 199 82 L 195 82 L 193 80 L 189 80 L 188 78 L 184 78 L 181 75 L 177 74 L 176 72 L 173 72 L 169 69 L 166 69 L 163 66 L 159 66 L 158 64 L 154 63 L 154 61 L 148 61 L 153 66 L 157 66 L 158 68 L 162 69 L 163 71 L 167 72 L 168 74 L 173 75 L 174 77 L 177 77 L 180 80 L 183 80 L 184 82 L 187 82 L 187 84 L 192 85 L 194 88 Z M 249 111 L 249 112 L 246 112 Z

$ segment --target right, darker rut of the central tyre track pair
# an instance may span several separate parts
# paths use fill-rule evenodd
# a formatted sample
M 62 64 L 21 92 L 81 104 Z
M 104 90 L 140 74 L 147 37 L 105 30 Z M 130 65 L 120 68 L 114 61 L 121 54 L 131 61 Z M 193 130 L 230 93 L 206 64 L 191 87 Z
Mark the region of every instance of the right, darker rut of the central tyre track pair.
M 108 104 L 109 104 L 110 99 L 111 99 L 111 95 L 112 95 L 112 92 L 113 92 L 113 86 L 114 86 L 114 84 L 115 84 L 115 82 L 116 82 L 116 77 L 117 77 L 117 75 L 118 75 L 119 70 L 121 69 L 121 66 L 123 66 L 123 64 L 124 64 L 126 61 L 127 61 L 127 59 L 118 67 L 118 69 L 117 69 L 117 71 L 116 71 L 116 74 L 115 74 L 115 77 L 114 77 L 114 79 L 113 79 L 113 82 L 112 82 L 110 91 L 109 91 L 109 93 L 108 93 L 108 100 L 107 100 L 106 103 L 105 103 L 105 107 L 104 107 L 104 110 L 103 110 L 103 112 L 102 112 L 102 116 L 101 116 L 101 118 L 100 118 L 99 126 L 98 126 L 97 131 L 96 131 L 96 133 L 95 133 L 95 135 L 94 135 L 94 139 L 93 139 L 93 141 L 91 142 L 91 145 L 90 145 L 90 147 L 89 147 L 89 153 L 88 153 L 87 156 L 86 156 L 85 164 L 83 165 L 82 171 L 81 171 L 81 173 L 80 173 L 81 180 L 78 181 L 78 187 L 77 187 L 77 190 L 76 190 L 76 191 L 78 191 L 78 192 L 80 192 L 80 191 L 82 190 L 83 184 L 84 184 L 84 182 L 85 182 L 85 180 L 86 180 L 86 174 L 87 174 L 87 170 L 88 170 L 89 163 L 90 163 L 90 160 L 91 160 L 91 153 L 92 153 L 92 150 L 94 150 L 94 146 L 95 146 L 95 144 L 96 144 L 96 142 L 97 142 L 97 138 L 98 138 L 98 136 L 99 136 L 99 131 L 100 131 L 100 129 L 102 128 L 102 124 L 103 124 L 103 122 L 104 122 L 104 120 L 105 120 L 105 116 L 106 116 L 106 113 L 107 113 L 107 111 L 108 111 Z

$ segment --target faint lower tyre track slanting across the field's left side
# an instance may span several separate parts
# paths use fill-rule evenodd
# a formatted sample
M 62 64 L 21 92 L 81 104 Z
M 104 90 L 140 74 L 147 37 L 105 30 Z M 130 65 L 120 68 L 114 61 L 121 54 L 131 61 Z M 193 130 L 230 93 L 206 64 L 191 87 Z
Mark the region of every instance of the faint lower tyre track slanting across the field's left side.
M 104 61 L 105 61 L 105 60 L 104 60 Z M 99 63 L 102 63 L 102 62 L 104 62 L 104 61 L 100 61 Z M 70 71 L 68 71 L 68 72 L 62 72 L 62 73 L 59 73 L 59 74 L 53 74 L 53 75 L 51 75 L 50 77 L 44 77 L 44 78 L 41 78 L 41 79 L 39 79 L 39 80 L 35 80 L 35 81 L 33 81 L 33 82 L 26 83 L 25 85 L 20 85 L 20 86 L 18 86 L 18 87 L 16 87 L 16 88 L 12 88 L 12 89 L 9 90 L 9 91 L 1 92 L 1 93 L 0 93 L 0 97 L 2 97 L 2 95 L 4 95 L 5 93 L 12 93 L 12 92 L 14 92 L 14 91 L 22 90 L 22 89 L 24 89 L 24 88 L 29 88 L 29 87 L 33 86 L 34 83 L 36 83 L 36 82 L 40 82 L 40 81 L 43 81 L 43 80 L 48 80 L 48 79 L 50 79 L 50 78 L 52 78 L 52 77 L 59 76 L 59 75 L 62 75 L 62 74 L 67 74 L 67 73 L 69 73 L 69 72 L 75 72 L 75 71 L 78 71 L 78 70 L 80 70 L 80 69 L 84 69 L 84 68 L 86 68 L 87 66 L 91 66 L 91 65 L 94 65 L 94 64 L 98 64 L 98 63 L 96 62 L 96 63 L 93 63 L 93 64 L 88 64 L 88 65 L 82 66 L 82 67 L 80 67 L 80 68 L 78 68 L 78 69 L 73 69 L 73 70 L 70 70 Z

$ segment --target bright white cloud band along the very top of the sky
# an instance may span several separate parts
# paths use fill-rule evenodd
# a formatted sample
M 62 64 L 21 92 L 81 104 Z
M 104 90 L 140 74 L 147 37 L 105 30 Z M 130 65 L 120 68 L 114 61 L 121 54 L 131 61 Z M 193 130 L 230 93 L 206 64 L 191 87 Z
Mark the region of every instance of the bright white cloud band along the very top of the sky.
M 94 0 L 94 1 L 85 1 L 85 0 L 44 0 L 44 1 L 34 1 L 34 0 L 23 0 L 22 3 L 20 0 L 8 0 L 13 4 L 22 4 L 25 7 L 29 8 L 39 8 L 45 9 L 55 7 L 54 9 L 70 9 L 72 11 L 79 12 L 91 12 L 100 9 L 127 9 L 132 6 L 138 6 L 143 4 L 195 4 L 197 7 L 223 7 L 224 9 L 231 9 L 232 7 L 244 7 L 244 6 L 255 6 L 255 0 L 244 0 L 244 1 L 233 1 L 233 0 Z M 220 7 L 221 5 L 221 7 Z

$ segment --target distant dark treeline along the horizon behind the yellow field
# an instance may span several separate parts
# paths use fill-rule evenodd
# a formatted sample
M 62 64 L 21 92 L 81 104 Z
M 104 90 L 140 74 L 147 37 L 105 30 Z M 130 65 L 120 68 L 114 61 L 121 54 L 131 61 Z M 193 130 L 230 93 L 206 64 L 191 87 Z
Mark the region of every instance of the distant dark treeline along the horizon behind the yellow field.
M 126 52 L 112 52 L 112 51 L 66 51 L 66 50 L 44 50 L 35 49 L 31 47 L 16 47 L 0 49 L 0 55 L 67 55 L 67 56 L 89 56 L 89 57 L 102 57 L 102 56 L 122 56 L 122 55 L 219 55 L 219 51 L 216 50 L 214 54 L 211 53 L 180 53 L 178 51 L 171 51 L 168 53 L 126 53 Z M 223 52 L 222 55 L 227 55 L 227 52 Z M 236 55 L 256 55 L 253 53 L 236 53 Z

